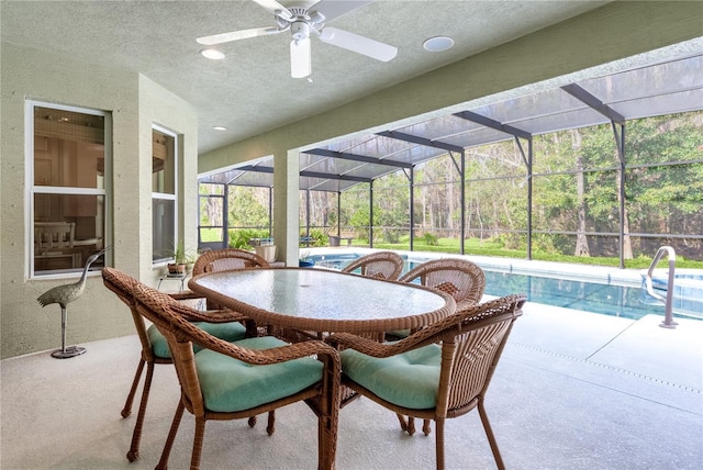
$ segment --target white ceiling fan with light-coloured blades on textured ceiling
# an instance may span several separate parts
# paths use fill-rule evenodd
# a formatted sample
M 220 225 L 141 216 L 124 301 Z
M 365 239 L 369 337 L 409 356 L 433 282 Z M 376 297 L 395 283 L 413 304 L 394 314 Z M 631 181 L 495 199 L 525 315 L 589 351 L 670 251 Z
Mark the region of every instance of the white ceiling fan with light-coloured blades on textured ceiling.
M 325 21 L 333 20 L 343 13 L 357 9 L 370 1 L 334 1 L 322 0 L 310 3 L 305 0 L 297 1 L 290 8 L 286 8 L 277 0 L 254 0 L 256 3 L 274 13 L 275 26 L 255 27 L 252 30 L 233 31 L 230 33 L 214 34 L 199 37 L 199 44 L 212 46 L 231 41 L 246 40 L 249 37 L 265 36 L 290 31 L 290 75 L 293 78 L 308 77 L 312 71 L 312 58 L 310 53 L 310 36 L 320 37 L 323 43 L 353 51 L 358 54 L 389 61 L 398 54 L 398 48 L 384 43 L 359 36 L 348 31 L 336 27 L 326 27 Z M 314 10 L 313 10 L 314 9 Z

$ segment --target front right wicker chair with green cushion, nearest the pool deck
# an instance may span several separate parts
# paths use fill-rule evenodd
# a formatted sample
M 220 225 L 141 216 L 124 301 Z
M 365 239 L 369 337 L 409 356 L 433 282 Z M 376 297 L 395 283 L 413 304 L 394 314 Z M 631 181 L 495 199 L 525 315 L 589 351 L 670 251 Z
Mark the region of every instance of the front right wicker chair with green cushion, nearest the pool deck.
M 483 400 L 525 295 L 514 294 L 464 310 L 398 343 L 341 333 L 327 338 L 342 356 L 342 384 L 403 415 L 434 419 L 436 466 L 445 468 L 445 419 L 478 407 L 495 463 L 503 469 Z M 429 426 L 423 426 L 425 435 Z

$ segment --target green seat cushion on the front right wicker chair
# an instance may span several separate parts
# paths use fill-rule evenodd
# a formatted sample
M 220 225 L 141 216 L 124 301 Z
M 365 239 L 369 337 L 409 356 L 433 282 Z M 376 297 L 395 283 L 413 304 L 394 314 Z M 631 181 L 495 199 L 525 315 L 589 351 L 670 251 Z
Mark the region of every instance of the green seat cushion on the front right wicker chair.
M 439 389 L 442 348 L 428 345 L 387 358 L 342 351 L 342 370 L 358 384 L 398 406 L 427 410 Z

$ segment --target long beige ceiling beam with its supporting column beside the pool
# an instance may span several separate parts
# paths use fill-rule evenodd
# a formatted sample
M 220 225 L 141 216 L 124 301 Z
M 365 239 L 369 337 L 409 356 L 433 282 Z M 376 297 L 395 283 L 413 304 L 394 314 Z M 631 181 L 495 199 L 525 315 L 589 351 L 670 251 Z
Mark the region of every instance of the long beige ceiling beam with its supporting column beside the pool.
M 330 112 L 201 155 L 199 171 L 276 155 L 278 174 L 290 168 L 290 165 L 281 165 L 287 164 L 283 158 L 288 149 L 311 148 L 335 137 L 389 130 L 410 121 L 635 67 L 652 57 L 610 63 L 702 35 L 703 2 L 609 3 Z M 609 65 L 602 66 L 604 64 Z M 276 244 L 286 256 L 280 248 L 295 249 L 297 246 L 298 187 L 290 178 L 276 177 L 275 181 Z M 282 182 L 288 186 L 279 187 Z M 294 206 L 291 201 L 279 203 L 282 189 L 289 199 L 294 199 Z M 288 262 L 295 259 L 297 250 L 286 258 Z

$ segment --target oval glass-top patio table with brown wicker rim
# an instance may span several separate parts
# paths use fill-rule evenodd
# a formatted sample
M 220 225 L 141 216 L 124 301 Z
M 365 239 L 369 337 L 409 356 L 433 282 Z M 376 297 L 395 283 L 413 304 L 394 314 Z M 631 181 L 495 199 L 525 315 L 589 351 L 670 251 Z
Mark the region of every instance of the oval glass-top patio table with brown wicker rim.
M 259 325 L 319 333 L 414 329 L 450 315 L 444 292 L 326 269 L 256 268 L 209 272 L 190 289 Z

